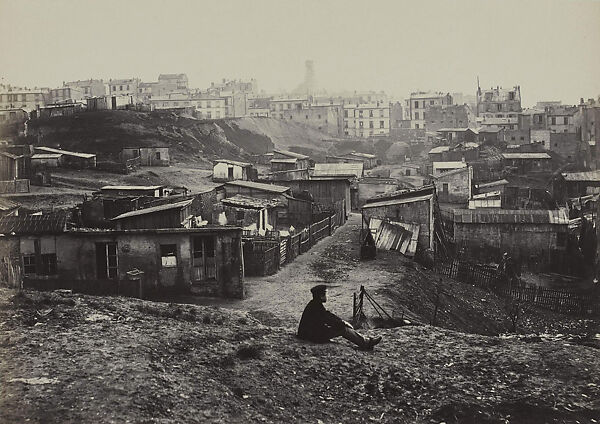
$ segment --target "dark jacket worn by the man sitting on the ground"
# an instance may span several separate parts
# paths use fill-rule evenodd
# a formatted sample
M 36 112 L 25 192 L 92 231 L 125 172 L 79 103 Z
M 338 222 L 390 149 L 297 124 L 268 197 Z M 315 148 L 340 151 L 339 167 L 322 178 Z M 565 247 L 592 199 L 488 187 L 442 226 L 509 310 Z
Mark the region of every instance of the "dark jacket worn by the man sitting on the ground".
M 338 336 L 344 327 L 344 321 L 325 309 L 320 300 L 313 299 L 302 313 L 298 337 L 316 343 L 327 343 L 332 337 Z

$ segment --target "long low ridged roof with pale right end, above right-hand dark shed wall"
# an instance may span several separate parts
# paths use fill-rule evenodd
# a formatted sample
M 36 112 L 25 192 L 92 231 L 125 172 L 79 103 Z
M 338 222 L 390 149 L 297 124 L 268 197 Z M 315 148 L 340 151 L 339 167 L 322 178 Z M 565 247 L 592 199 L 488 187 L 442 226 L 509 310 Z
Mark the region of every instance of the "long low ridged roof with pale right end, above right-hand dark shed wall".
M 455 209 L 454 222 L 462 224 L 569 224 L 564 209 L 505 210 Z

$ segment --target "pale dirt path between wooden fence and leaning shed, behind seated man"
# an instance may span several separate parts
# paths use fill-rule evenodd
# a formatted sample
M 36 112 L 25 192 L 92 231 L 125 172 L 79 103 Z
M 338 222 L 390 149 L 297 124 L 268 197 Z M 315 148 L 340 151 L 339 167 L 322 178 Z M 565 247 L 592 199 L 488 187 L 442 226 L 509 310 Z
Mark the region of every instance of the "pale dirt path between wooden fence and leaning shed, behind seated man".
M 359 261 L 358 231 L 360 214 L 353 213 L 348 221 L 330 236 L 319 241 L 313 248 L 285 265 L 279 272 L 266 277 L 246 277 L 247 297 L 244 300 L 223 301 L 219 299 L 178 298 L 177 301 L 202 305 L 215 305 L 245 310 L 264 324 L 295 328 L 306 303 L 310 300 L 310 288 L 316 284 L 329 286 L 327 309 L 340 317 L 352 317 L 352 294 L 365 285 L 374 294 L 385 288 L 391 278 L 398 278 L 381 268 L 381 258 L 372 262 Z M 386 252 L 383 252 L 386 253 Z M 398 255 L 396 261 L 400 264 Z M 390 264 L 388 264 L 390 265 Z M 393 265 L 393 264 L 391 264 Z M 393 311 L 386 299 L 379 299 L 384 307 Z

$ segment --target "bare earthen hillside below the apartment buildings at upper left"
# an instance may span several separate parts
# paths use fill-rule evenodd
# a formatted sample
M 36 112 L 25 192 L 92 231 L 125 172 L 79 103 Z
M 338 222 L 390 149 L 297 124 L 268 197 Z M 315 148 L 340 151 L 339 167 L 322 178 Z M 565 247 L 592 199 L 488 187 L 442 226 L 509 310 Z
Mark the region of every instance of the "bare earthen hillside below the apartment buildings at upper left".
M 122 147 L 169 146 L 174 162 L 249 160 L 275 148 L 322 150 L 326 137 L 310 127 L 271 118 L 202 121 L 168 112 L 96 111 L 33 120 L 29 141 L 116 158 Z

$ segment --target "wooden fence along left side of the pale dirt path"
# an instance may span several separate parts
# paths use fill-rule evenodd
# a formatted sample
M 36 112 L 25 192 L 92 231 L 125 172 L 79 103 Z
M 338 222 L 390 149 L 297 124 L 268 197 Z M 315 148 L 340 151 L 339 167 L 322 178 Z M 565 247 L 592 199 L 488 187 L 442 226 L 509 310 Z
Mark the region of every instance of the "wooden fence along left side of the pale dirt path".
M 282 237 L 278 231 L 253 237 L 244 234 L 244 270 L 247 276 L 275 274 L 283 265 L 307 252 L 319 240 L 331 235 L 339 226 L 338 213 L 315 222 L 302 231 Z

